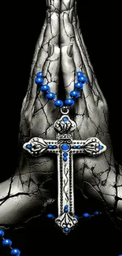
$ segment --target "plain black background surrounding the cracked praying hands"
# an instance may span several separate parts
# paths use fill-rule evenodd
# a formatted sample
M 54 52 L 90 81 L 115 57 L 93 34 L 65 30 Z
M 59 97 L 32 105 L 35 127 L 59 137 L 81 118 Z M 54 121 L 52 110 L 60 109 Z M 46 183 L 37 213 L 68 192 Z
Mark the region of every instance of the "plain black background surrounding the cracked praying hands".
M 121 17 L 120 6 L 105 2 L 81 1 L 78 14 L 94 72 L 109 106 L 109 132 L 116 161 L 121 158 Z M 35 50 L 43 20 L 46 15 L 45 1 L 10 2 L 3 6 L 1 22 L 1 176 L 6 180 L 17 166 L 17 139 L 20 108 L 28 87 L 31 59 Z M 42 225 L 43 222 L 43 225 Z M 81 221 L 71 235 L 64 237 L 50 221 L 35 221 L 24 230 L 7 232 L 22 256 L 63 254 L 75 248 L 80 255 L 120 254 L 120 232 L 116 232 L 107 217 Z M 30 242 L 28 242 L 30 239 Z M 33 241 L 33 243 L 32 243 Z M 26 244 L 27 243 L 27 244 Z M 56 247 L 57 244 L 57 247 Z M 121 248 L 122 251 L 122 248 Z M 0 251 L 0 255 L 6 255 Z M 8 254 L 9 255 L 9 254 Z

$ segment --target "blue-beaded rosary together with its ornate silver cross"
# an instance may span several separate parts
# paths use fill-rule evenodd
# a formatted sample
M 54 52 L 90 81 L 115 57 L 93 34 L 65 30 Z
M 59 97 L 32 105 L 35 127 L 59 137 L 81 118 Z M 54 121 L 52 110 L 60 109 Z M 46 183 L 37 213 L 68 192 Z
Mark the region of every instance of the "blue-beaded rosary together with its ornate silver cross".
M 95 211 L 92 215 L 83 213 L 82 217 L 75 214 L 74 207 L 74 184 L 73 184 L 73 154 L 87 154 L 91 157 L 97 157 L 106 150 L 106 146 L 95 137 L 86 140 L 73 139 L 72 132 L 76 130 L 76 122 L 68 116 L 69 108 L 75 104 L 75 99 L 80 97 L 79 90 L 87 83 L 87 78 L 83 72 L 77 72 L 77 83 L 74 90 L 70 92 L 70 98 L 64 102 L 60 99 L 54 100 L 56 95 L 50 91 L 47 84 L 43 84 L 43 72 L 36 74 L 35 83 L 40 87 L 48 100 L 54 101 L 54 106 L 61 109 L 61 118 L 54 123 L 54 130 L 57 132 L 56 139 L 41 139 L 34 137 L 28 143 L 24 143 L 24 150 L 27 150 L 32 157 L 39 157 L 48 152 L 57 154 L 57 207 L 58 216 L 47 214 L 47 217 L 55 221 L 62 232 L 68 234 L 78 224 L 78 220 L 83 217 L 93 217 L 100 214 Z M 5 232 L 0 229 L 0 239 L 2 245 L 10 248 L 10 254 L 20 256 L 20 250 L 11 247 L 12 241 L 5 239 Z M 122 255 L 119 255 L 122 256 Z

